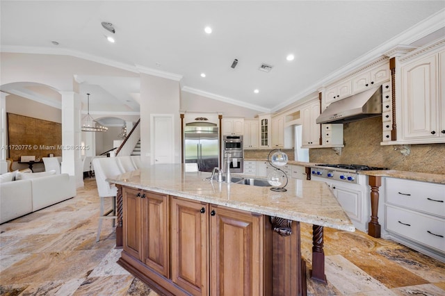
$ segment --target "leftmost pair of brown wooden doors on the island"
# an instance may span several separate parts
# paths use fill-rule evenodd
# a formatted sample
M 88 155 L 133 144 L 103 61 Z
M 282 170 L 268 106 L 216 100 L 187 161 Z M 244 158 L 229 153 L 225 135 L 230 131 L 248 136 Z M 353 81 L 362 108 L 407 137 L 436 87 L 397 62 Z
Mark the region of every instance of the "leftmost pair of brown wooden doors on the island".
M 168 196 L 123 188 L 123 249 L 159 274 L 169 274 Z

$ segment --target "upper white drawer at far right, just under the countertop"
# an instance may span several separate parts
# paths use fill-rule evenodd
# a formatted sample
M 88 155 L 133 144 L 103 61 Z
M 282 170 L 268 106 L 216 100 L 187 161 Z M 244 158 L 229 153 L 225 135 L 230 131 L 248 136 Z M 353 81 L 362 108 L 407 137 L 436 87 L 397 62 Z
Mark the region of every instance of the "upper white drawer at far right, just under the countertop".
M 435 183 L 387 179 L 387 202 L 445 217 L 445 186 Z

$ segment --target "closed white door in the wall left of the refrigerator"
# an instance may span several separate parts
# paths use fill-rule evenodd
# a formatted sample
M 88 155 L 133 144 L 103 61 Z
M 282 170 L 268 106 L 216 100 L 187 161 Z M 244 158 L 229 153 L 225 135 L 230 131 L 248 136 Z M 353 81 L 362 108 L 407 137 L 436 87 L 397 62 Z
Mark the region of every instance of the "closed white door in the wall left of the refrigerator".
M 152 164 L 175 162 L 175 124 L 173 115 L 151 115 Z

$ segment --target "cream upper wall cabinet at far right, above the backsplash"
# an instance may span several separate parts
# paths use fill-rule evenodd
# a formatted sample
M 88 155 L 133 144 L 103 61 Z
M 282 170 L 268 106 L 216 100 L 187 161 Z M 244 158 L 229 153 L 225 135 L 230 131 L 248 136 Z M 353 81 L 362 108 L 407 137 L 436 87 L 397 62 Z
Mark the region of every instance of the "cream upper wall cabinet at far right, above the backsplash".
M 445 50 L 401 66 L 403 140 L 445 142 Z

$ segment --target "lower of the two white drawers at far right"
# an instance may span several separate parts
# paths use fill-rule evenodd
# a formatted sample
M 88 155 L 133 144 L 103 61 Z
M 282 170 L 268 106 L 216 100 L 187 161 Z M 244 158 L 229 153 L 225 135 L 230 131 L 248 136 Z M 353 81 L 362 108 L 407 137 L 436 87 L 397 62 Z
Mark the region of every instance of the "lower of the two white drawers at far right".
M 445 220 L 443 219 L 387 206 L 386 223 L 388 231 L 445 252 Z

